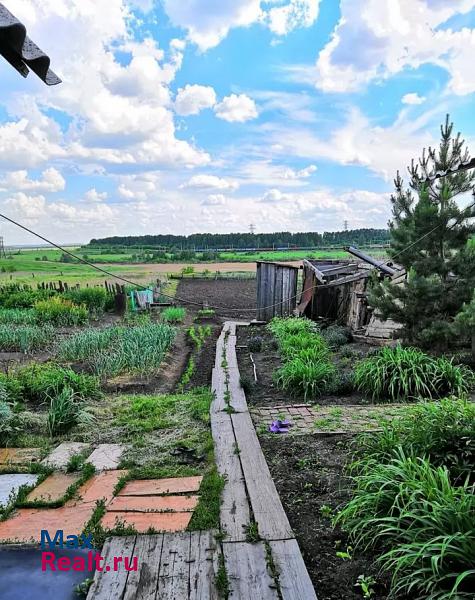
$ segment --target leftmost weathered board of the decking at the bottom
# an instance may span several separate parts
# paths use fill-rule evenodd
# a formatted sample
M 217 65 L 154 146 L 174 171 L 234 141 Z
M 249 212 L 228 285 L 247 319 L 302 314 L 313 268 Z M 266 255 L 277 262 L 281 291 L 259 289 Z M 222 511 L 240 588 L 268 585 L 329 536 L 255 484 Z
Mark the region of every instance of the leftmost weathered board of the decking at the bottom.
M 102 561 L 103 567 L 110 566 L 112 571 L 115 557 L 131 558 L 134 552 L 135 539 L 135 536 L 108 538 L 101 553 L 104 558 Z M 118 565 L 119 570 L 112 573 L 96 571 L 94 582 L 87 595 L 88 600 L 122 599 L 129 572 L 125 570 L 123 560 Z

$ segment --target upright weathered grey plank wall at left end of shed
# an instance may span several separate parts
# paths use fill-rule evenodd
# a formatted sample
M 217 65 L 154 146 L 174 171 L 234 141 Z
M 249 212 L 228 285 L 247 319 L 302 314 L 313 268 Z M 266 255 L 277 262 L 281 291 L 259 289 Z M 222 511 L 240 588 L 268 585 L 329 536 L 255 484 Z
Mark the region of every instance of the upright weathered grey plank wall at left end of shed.
M 298 268 L 257 263 L 257 319 L 291 315 L 297 304 Z

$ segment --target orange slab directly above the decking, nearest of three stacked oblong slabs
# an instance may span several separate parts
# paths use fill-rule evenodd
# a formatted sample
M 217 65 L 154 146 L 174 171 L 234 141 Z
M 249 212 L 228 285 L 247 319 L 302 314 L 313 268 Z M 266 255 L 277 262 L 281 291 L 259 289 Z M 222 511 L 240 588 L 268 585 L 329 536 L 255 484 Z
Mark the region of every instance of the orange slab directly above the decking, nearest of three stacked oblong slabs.
M 183 531 L 188 527 L 191 516 L 191 512 L 106 512 L 102 526 L 104 529 L 114 529 L 120 523 L 133 526 L 139 533 L 146 533 L 151 528 L 157 532 Z

